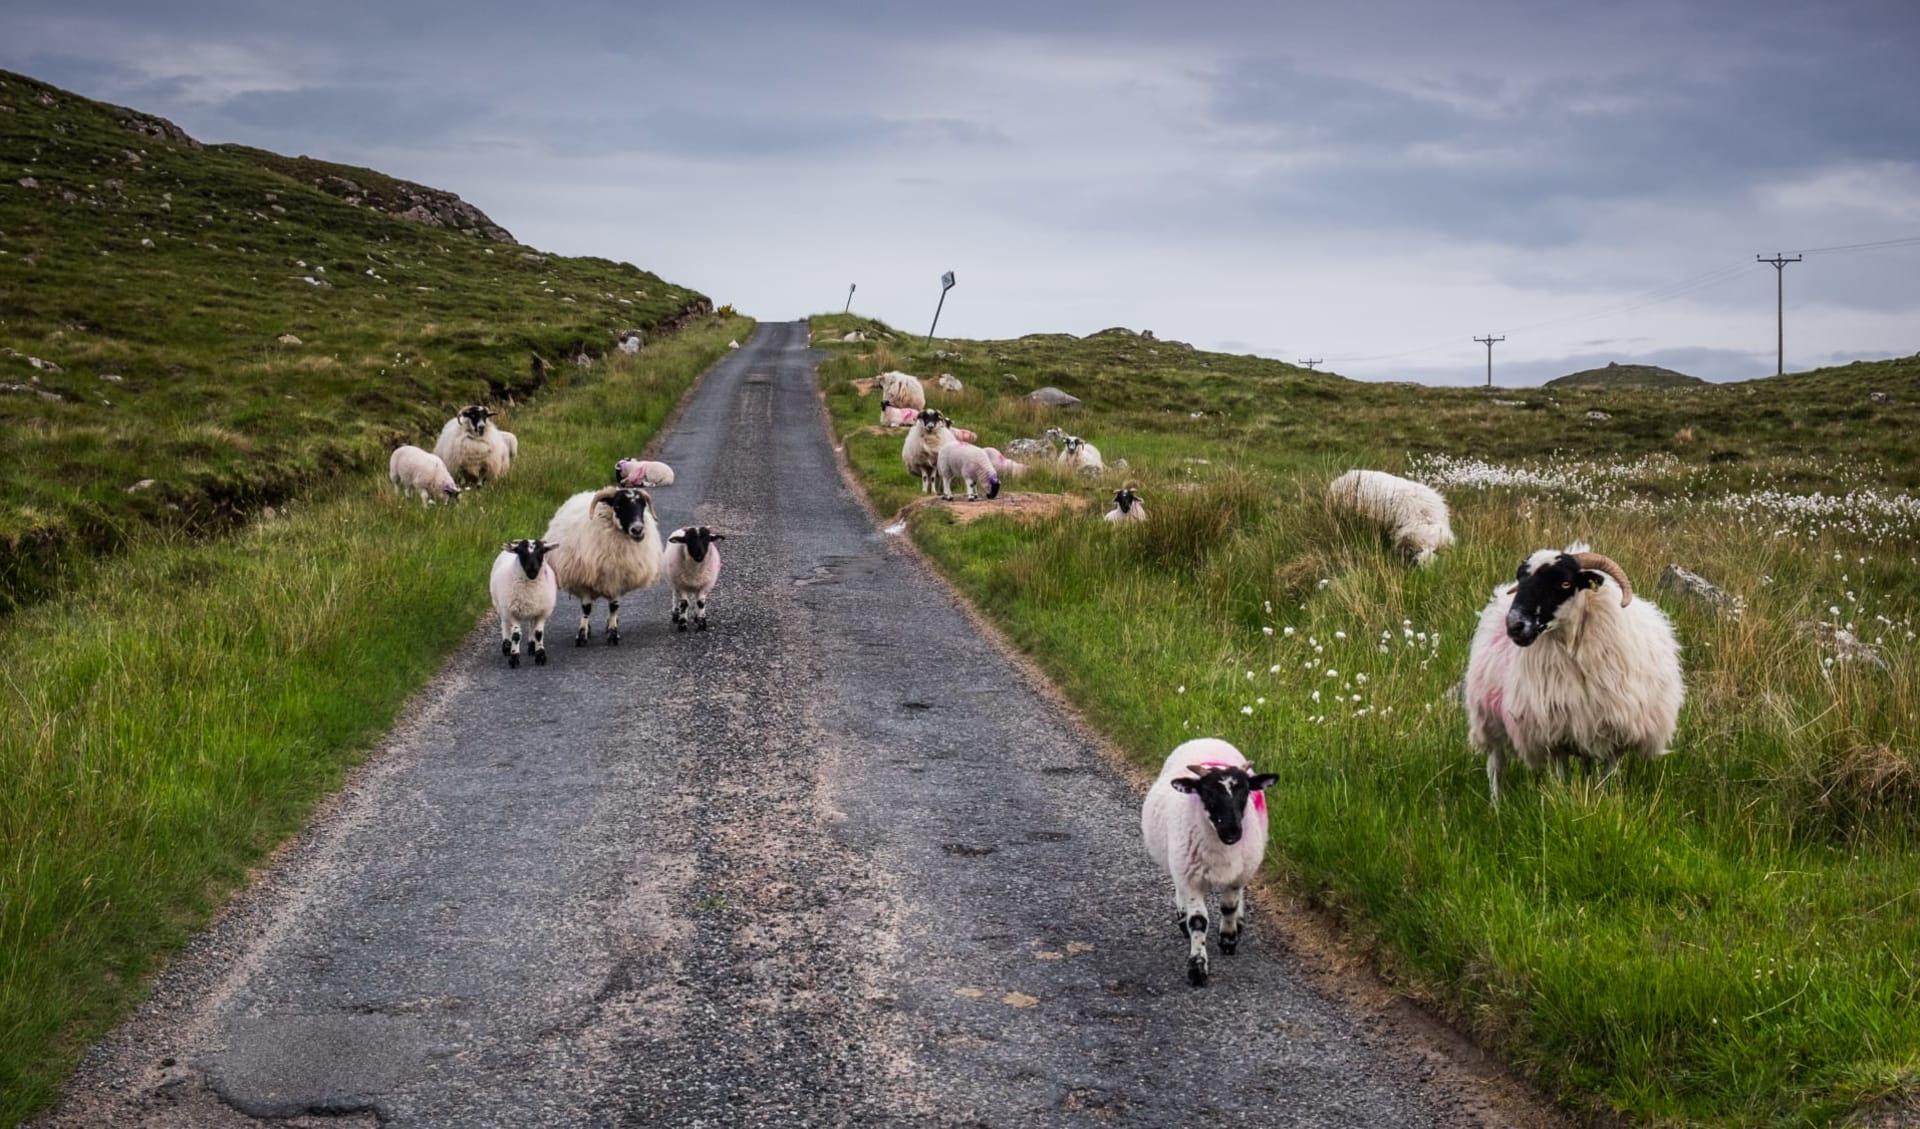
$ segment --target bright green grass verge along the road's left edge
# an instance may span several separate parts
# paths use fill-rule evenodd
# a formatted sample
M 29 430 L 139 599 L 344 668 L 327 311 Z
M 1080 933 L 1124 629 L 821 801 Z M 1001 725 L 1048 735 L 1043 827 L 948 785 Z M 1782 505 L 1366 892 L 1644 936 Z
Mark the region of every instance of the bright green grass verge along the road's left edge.
M 524 407 L 513 474 L 453 507 L 349 474 L 0 620 L 0 1125 L 392 726 L 488 609 L 499 541 L 601 486 L 749 330 L 685 330 Z

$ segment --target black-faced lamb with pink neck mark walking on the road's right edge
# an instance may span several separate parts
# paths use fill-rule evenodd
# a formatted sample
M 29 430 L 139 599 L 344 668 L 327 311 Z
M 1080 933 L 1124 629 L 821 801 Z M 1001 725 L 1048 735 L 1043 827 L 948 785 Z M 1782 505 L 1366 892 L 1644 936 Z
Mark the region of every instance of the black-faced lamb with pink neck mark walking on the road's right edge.
M 1267 854 L 1271 772 L 1254 772 L 1238 749 L 1198 737 L 1167 753 L 1140 805 L 1146 854 L 1173 877 L 1173 924 L 1187 937 L 1187 983 L 1206 987 L 1208 895 L 1219 893 L 1219 950 L 1240 945 L 1246 883 Z

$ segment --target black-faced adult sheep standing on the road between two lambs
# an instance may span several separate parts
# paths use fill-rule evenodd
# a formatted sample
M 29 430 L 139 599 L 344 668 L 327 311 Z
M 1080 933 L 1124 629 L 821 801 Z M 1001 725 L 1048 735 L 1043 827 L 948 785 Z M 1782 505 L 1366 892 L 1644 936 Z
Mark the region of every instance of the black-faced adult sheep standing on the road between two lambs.
M 620 597 L 660 578 L 660 526 L 653 495 L 637 486 L 586 490 L 561 503 L 543 541 L 561 591 L 580 601 L 576 647 L 588 645 L 593 601 L 607 601 L 607 645 L 620 645 Z

